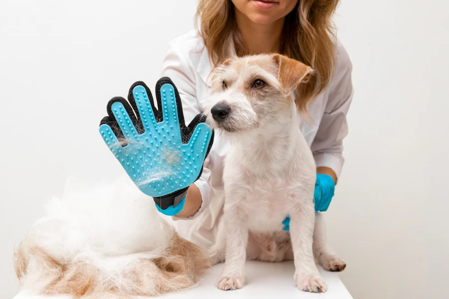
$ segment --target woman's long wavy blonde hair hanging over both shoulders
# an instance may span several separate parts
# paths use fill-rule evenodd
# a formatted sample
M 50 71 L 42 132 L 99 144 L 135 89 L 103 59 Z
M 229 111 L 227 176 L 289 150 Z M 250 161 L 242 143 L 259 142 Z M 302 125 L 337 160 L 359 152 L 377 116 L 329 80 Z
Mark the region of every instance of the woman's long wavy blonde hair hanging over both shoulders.
M 316 95 L 327 86 L 334 69 L 335 42 L 331 21 L 339 0 L 299 0 L 286 15 L 282 31 L 281 54 L 311 66 L 315 72 L 307 84 L 296 88 L 296 105 L 306 111 Z M 215 65 L 230 56 L 224 47 L 231 40 L 238 56 L 245 46 L 235 22 L 231 0 L 200 0 L 196 14 L 197 30 Z

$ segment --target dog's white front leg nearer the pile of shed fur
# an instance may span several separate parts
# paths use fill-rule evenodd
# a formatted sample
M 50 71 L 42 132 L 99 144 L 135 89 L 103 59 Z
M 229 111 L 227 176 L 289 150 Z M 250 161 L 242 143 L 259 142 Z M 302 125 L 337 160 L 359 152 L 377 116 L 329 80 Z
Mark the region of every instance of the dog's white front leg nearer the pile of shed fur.
M 238 202 L 238 201 L 237 201 Z M 244 267 L 248 227 L 244 213 L 236 206 L 226 206 L 224 213 L 226 234 L 226 260 L 217 287 L 222 290 L 235 290 L 245 282 Z

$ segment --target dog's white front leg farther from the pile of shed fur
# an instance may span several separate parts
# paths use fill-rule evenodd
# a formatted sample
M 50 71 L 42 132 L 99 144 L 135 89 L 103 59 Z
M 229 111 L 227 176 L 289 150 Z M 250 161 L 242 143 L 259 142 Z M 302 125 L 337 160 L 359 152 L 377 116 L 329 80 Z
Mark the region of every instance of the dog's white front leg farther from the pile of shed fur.
M 294 280 L 302 291 L 323 293 L 326 292 L 326 285 L 316 268 L 312 252 L 314 224 L 313 203 L 290 212 L 290 238 L 295 263 Z

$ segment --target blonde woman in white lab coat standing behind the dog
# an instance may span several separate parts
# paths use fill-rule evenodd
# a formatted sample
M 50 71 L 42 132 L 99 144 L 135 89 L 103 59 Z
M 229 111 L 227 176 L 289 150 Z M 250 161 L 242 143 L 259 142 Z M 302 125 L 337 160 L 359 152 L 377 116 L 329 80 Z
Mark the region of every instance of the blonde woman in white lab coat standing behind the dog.
M 331 31 L 337 4 L 338 0 L 200 0 L 198 33 L 170 42 L 162 71 L 176 84 L 189 123 L 203 110 L 212 68 L 232 55 L 278 52 L 312 66 L 315 76 L 295 90 L 297 98 L 307 99 L 298 101 L 306 103 L 298 105 L 299 112 L 307 111 L 310 118 L 298 113 L 298 126 L 313 151 L 322 188 L 331 189 L 327 201 L 343 166 L 342 140 L 353 94 L 351 62 Z M 174 217 L 195 218 L 178 227 L 204 248 L 215 243 L 225 200 L 222 169 L 228 147 L 216 135 L 202 176 L 189 187 L 184 207 Z M 328 202 L 317 208 L 319 204 L 316 210 L 327 209 Z

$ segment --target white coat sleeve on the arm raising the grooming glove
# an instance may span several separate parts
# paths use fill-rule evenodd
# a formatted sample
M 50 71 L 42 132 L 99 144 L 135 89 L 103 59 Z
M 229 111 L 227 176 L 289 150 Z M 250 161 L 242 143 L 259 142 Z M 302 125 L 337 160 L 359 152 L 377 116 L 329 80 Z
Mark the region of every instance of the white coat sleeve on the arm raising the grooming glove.
M 184 119 L 186 125 L 200 113 L 200 107 L 196 96 L 196 71 L 192 64 L 189 64 L 182 53 L 180 46 L 170 43 L 167 54 L 162 62 L 162 76 L 169 77 L 178 89 L 183 104 Z M 209 206 L 211 197 L 211 186 L 209 176 L 211 170 L 208 169 L 209 157 L 206 158 L 201 177 L 195 182 L 200 189 L 202 204 L 200 209 L 188 218 L 173 217 L 174 219 L 193 219 Z

